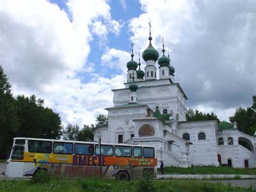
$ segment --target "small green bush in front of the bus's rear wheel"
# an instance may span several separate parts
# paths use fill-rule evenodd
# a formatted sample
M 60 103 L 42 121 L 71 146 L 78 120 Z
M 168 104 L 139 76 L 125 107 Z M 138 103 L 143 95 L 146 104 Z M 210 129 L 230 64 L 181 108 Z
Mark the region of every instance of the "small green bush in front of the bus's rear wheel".
M 137 191 L 138 192 L 151 192 L 156 191 L 156 187 L 154 185 L 154 181 L 152 180 L 152 176 L 149 174 L 145 174 L 143 179 L 138 182 Z

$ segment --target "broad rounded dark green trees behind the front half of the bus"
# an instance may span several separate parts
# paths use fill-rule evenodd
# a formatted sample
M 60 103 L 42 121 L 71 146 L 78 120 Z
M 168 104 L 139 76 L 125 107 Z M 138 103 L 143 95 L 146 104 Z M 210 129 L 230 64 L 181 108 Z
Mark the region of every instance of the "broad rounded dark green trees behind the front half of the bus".
M 35 95 L 16 99 L 20 129 L 17 136 L 58 139 L 61 136 L 61 120 L 58 113 L 44 108 L 44 100 Z

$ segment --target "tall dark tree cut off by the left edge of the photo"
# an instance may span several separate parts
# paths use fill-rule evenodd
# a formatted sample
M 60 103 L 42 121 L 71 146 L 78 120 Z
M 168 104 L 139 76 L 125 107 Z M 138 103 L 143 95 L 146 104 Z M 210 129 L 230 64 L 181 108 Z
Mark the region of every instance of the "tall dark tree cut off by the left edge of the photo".
M 6 156 L 7 149 L 12 145 L 12 138 L 17 134 L 19 127 L 11 85 L 0 65 L 0 158 Z

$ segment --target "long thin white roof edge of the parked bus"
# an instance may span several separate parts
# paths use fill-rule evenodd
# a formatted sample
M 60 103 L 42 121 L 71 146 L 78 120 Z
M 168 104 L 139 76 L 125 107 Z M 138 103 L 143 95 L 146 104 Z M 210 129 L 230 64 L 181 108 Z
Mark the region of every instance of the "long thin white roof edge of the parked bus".
M 40 139 L 40 138 L 13 138 L 13 140 L 56 141 L 56 142 L 66 142 L 66 143 L 98 144 L 97 141 L 49 140 L 49 139 Z M 153 148 L 155 148 L 154 146 L 150 146 L 150 145 L 124 144 L 124 143 L 101 143 L 101 145 L 120 145 L 120 146 L 153 147 Z

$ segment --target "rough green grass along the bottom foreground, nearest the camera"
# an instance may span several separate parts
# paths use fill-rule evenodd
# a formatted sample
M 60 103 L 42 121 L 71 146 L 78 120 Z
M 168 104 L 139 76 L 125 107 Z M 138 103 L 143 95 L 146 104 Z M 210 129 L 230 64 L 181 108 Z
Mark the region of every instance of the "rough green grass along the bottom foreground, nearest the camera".
M 145 185 L 145 182 L 142 182 Z M 147 184 L 146 184 L 147 185 Z M 153 185 L 153 186 L 152 186 Z M 147 187 L 147 186 L 143 186 Z M 207 182 L 181 181 L 181 180 L 152 180 L 151 189 L 154 191 L 170 192 L 249 192 L 256 191 L 253 188 L 237 188 L 224 184 L 212 184 Z M 148 190 L 148 192 L 152 191 Z M 143 192 L 140 180 L 131 180 L 120 182 L 117 180 L 99 180 L 99 179 L 51 179 L 49 182 L 35 183 L 31 180 L 1 180 L 0 191 L 138 191 Z

